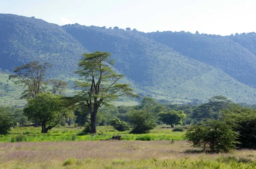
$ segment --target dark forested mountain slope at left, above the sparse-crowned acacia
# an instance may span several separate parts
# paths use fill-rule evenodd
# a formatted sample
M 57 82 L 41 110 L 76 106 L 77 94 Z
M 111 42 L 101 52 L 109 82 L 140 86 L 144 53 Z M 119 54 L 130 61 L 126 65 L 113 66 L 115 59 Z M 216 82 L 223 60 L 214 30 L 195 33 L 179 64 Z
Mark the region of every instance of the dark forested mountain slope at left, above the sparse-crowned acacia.
M 69 74 L 87 49 L 61 26 L 34 17 L 0 14 L 0 68 L 9 69 L 29 61 L 51 63 L 53 74 Z

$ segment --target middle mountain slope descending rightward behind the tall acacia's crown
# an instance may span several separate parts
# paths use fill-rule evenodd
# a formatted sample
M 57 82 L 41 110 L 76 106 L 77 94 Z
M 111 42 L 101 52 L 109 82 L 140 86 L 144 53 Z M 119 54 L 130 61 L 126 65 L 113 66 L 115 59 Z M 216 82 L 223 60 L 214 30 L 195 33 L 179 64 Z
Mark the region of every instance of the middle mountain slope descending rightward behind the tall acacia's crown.
M 140 32 L 79 24 L 62 27 L 88 50 L 111 52 L 116 60 L 115 68 L 156 98 L 189 101 L 227 95 L 237 101 L 254 101 L 253 88 L 239 83 L 221 69 L 182 56 Z

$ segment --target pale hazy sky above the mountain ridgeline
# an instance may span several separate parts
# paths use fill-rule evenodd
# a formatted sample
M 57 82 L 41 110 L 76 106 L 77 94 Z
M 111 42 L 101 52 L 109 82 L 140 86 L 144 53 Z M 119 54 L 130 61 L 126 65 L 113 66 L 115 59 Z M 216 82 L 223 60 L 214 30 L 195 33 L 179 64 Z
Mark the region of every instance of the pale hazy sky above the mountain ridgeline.
M 141 32 L 256 32 L 256 0 L 0 0 L 0 13 Z

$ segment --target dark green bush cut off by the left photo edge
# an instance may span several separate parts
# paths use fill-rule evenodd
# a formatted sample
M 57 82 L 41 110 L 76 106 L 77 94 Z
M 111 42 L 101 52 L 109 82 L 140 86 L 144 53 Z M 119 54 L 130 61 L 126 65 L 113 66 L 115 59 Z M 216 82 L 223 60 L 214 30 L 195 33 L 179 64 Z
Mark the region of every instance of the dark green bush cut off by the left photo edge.
M 0 107 L 0 135 L 6 135 L 13 125 L 11 115 L 6 114 L 6 108 Z

